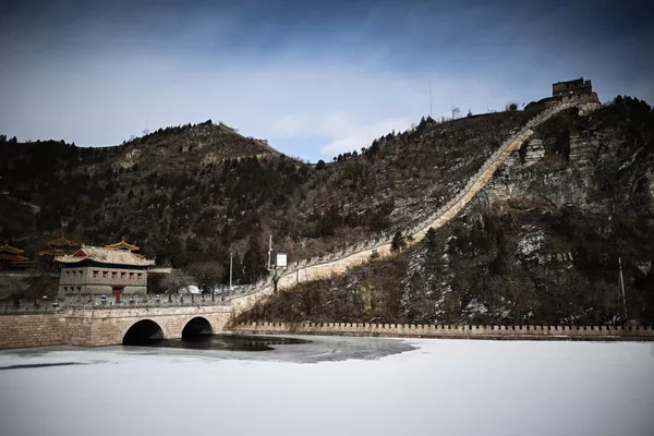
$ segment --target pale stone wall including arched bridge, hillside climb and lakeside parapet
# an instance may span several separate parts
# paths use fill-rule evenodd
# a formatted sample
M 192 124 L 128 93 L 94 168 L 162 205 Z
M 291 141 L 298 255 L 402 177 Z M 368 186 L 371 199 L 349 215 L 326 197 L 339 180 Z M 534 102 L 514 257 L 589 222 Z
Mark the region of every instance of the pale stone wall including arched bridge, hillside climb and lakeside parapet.
M 439 228 L 456 217 L 493 178 L 496 170 L 528 141 L 532 128 L 556 113 L 578 107 L 591 112 L 601 107 L 596 97 L 564 98 L 550 106 L 522 129 L 507 138 L 470 178 L 464 187 L 447 204 L 422 222 L 405 232 L 410 243 L 422 240 L 429 228 Z M 55 304 L 28 304 L 0 306 L 0 349 L 46 344 L 106 346 L 121 343 L 125 332 L 140 320 L 154 320 L 164 338 L 179 338 L 192 319 L 204 318 L 214 332 L 225 331 L 230 326 L 234 332 L 252 334 L 306 334 L 306 335 L 359 335 L 359 336 L 407 336 L 449 338 L 567 338 L 567 339 L 654 339 L 652 327 L 607 326 L 414 326 L 380 324 L 284 324 L 251 323 L 233 325 L 235 315 L 247 311 L 256 302 L 271 295 L 274 291 L 289 289 L 296 283 L 340 275 L 349 268 L 371 262 L 374 257 L 391 255 L 391 237 L 347 246 L 340 252 L 316 258 L 298 261 L 289 268 L 268 276 L 258 283 L 235 288 L 220 295 L 131 295 L 120 304 L 111 296 L 100 300 L 99 295 L 69 298 Z M 277 283 L 275 283 L 277 281 Z M 276 286 L 277 284 L 277 286 Z M 125 295 L 126 296 L 126 295 Z

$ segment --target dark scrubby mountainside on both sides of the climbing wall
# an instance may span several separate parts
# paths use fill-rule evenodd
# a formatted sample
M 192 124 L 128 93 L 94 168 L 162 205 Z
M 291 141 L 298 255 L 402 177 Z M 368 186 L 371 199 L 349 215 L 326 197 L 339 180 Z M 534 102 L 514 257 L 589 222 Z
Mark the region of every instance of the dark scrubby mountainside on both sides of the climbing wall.
M 463 213 L 402 249 L 405 229 L 543 106 L 511 109 L 423 119 L 317 165 L 210 121 L 102 148 L 4 138 L 0 235 L 31 255 L 62 222 L 83 243 L 126 235 L 210 286 L 227 282 L 230 252 L 235 283 L 266 275 L 268 234 L 291 262 L 396 234 L 397 255 L 280 292 L 243 318 L 652 323 L 654 116 L 634 98 L 538 125 Z

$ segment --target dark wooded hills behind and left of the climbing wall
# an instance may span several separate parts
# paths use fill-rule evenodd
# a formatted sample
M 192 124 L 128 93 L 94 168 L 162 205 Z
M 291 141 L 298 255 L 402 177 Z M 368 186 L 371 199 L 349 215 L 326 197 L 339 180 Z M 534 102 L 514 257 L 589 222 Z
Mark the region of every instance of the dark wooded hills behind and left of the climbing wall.
M 62 226 L 87 244 L 125 235 L 201 286 L 227 280 L 232 251 L 235 282 L 251 282 L 268 234 L 298 259 L 419 221 L 533 114 L 423 119 L 317 165 L 210 121 L 102 148 L 0 136 L 0 238 L 34 257 Z

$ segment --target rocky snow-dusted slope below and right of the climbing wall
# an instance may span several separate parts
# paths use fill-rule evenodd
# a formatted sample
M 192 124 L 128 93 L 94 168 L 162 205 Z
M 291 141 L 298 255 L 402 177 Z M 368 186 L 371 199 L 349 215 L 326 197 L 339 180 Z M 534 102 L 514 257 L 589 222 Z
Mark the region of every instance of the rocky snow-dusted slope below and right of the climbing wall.
M 637 99 L 561 112 L 424 241 L 401 250 L 398 238 L 397 256 L 280 292 L 242 317 L 654 323 L 653 138 L 652 108 Z

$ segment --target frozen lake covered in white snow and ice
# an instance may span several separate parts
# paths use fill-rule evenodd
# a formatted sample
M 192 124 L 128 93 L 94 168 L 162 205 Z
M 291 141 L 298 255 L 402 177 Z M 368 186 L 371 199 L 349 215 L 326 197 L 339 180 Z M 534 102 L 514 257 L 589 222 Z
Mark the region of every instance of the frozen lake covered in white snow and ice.
M 654 343 L 0 352 L 0 435 L 654 435 Z

